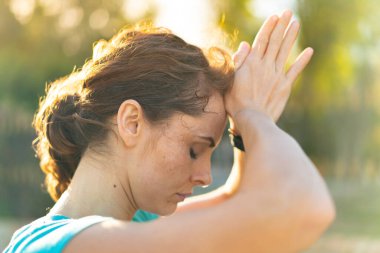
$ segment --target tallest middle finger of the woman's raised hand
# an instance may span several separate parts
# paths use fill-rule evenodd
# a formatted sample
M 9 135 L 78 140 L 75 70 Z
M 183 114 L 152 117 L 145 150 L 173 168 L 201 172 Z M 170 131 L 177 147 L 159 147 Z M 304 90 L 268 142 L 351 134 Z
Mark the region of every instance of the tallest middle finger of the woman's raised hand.
M 276 59 L 278 51 L 282 45 L 285 30 L 288 27 L 291 18 L 292 12 L 289 10 L 284 11 L 274 28 L 272 35 L 270 36 L 267 52 L 265 53 L 269 59 Z

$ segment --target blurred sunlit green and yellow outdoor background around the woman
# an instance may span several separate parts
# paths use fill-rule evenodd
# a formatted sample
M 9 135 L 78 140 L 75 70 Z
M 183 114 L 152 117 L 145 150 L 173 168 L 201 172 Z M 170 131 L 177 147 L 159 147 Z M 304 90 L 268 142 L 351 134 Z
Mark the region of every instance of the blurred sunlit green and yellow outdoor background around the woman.
M 33 113 L 45 84 L 80 67 L 94 41 L 146 19 L 197 45 L 234 50 L 285 8 L 301 22 L 292 57 L 307 46 L 315 54 L 279 125 L 315 162 L 337 205 L 336 222 L 307 252 L 380 252 L 378 0 L 0 0 L 0 250 L 53 205 L 31 147 Z M 231 159 L 225 138 L 210 189 Z

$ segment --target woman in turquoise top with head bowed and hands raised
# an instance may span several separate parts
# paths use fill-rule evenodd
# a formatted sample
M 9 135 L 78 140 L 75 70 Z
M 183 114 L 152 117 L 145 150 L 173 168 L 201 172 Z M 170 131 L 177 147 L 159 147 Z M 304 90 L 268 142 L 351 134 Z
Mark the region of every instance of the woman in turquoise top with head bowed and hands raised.
M 162 29 L 98 43 L 92 60 L 41 101 L 36 149 L 58 201 L 5 252 L 296 252 L 312 244 L 334 206 L 314 165 L 275 124 L 312 56 L 306 49 L 284 70 L 299 30 L 291 16 L 267 19 L 233 63 Z M 211 183 L 227 115 L 245 151 L 235 148 L 226 185 L 178 205 Z M 174 215 L 130 222 L 138 209 Z

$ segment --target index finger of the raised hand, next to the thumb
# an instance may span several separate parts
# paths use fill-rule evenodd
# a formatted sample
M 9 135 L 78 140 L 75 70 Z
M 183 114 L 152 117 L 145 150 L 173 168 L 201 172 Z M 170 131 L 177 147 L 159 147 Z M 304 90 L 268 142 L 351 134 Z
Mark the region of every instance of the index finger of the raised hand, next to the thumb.
M 278 22 L 277 15 L 269 17 L 261 26 L 252 44 L 252 54 L 260 59 L 267 50 L 268 42 L 271 37 L 272 31 Z

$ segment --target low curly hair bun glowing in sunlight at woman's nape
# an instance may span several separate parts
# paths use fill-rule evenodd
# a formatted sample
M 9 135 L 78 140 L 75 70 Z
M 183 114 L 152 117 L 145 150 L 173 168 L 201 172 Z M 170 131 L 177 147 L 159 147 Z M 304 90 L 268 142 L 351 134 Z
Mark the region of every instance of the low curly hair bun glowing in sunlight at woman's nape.
M 42 109 L 33 121 L 38 134 L 34 146 L 46 174 L 48 191 L 54 200 L 70 184 L 88 146 L 80 120 L 81 97 L 65 92 L 64 86 L 58 84 L 41 101 Z

